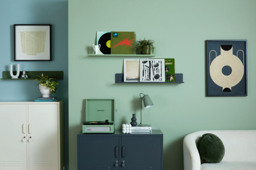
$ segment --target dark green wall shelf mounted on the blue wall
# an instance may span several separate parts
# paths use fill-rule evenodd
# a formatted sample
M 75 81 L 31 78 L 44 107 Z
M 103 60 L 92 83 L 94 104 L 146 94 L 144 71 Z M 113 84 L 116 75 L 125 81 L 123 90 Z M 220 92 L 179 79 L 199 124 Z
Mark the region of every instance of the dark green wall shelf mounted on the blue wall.
M 35 78 L 38 78 L 38 76 L 41 76 L 42 73 L 44 76 L 49 76 L 58 80 L 63 79 L 63 71 L 26 71 L 26 75 L 28 76 L 26 79 L 12 78 L 10 76 L 10 71 L 3 71 L 1 80 L 34 80 Z M 16 71 L 13 71 L 13 74 L 16 75 Z M 20 75 L 22 75 L 22 71 L 20 71 Z

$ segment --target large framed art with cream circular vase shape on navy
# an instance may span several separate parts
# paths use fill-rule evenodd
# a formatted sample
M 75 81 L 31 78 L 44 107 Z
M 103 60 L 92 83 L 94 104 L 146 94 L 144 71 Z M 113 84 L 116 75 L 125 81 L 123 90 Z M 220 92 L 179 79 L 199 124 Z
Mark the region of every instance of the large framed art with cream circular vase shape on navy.
M 206 96 L 247 96 L 247 40 L 206 40 Z

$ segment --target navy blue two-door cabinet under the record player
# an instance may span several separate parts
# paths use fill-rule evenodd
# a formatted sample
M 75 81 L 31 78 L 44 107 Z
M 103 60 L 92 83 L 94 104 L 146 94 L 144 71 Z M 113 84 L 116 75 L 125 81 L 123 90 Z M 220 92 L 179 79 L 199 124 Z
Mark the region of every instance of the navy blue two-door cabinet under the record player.
M 163 134 L 77 134 L 78 170 L 163 170 Z

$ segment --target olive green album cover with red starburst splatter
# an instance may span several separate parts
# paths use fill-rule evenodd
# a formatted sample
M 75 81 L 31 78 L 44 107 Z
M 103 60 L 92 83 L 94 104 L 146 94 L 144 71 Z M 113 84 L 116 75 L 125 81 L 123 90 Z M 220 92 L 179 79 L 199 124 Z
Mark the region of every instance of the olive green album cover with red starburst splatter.
M 136 32 L 111 31 L 111 54 L 136 54 Z

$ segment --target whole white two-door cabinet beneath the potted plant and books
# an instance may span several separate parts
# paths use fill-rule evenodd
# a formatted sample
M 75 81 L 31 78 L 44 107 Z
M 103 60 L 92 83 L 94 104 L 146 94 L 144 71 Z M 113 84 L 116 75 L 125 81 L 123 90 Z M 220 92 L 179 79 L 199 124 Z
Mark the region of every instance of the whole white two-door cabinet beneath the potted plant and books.
M 62 170 L 64 102 L 0 102 L 0 169 Z

